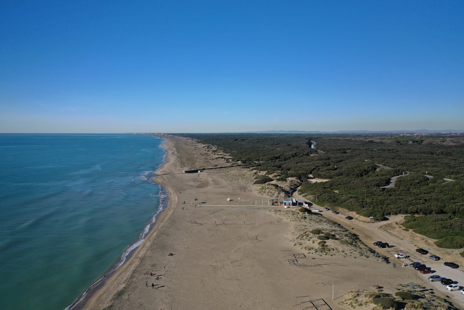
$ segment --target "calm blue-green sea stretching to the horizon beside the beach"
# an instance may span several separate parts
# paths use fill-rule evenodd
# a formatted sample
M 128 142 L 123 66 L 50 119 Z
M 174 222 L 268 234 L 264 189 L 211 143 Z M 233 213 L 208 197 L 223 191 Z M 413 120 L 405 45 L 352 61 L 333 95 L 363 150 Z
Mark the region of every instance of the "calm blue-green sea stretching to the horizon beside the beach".
M 0 309 L 62 310 L 161 211 L 162 140 L 0 134 Z

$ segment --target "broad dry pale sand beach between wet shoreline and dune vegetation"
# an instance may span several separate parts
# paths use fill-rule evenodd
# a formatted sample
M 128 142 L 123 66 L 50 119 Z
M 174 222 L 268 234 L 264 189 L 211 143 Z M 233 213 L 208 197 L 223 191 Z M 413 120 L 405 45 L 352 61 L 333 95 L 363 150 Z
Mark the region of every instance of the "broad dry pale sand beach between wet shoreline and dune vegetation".
M 344 309 L 338 303 L 349 290 L 373 290 L 380 285 L 393 293 L 398 284 L 415 276 L 411 268 L 361 257 L 364 250 L 337 244 L 337 240 L 328 240 L 329 247 L 338 248 L 330 252 L 333 256 L 302 250 L 311 244 L 317 248 L 305 229 L 327 228 L 330 223 L 313 223 L 312 215 L 305 218 L 267 206 L 269 197 L 258 195 L 248 169 L 181 173 L 186 167 L 220 163 L 191 140 L 168 137 L 165 148 L 167 163 L 158 173 L 172 174 L 155 181 L 170 192 L 168 209 L 161 212 L 129 262 L 90 298 L 85 309 L 293 309 L 295 297 L 309 295 L 323 298 L 332 309 Z M 233 201 L 227 202 L 228 197 Z M 259 205 L 261 199 L 264 205 Z M 224 204 L 230 205 L 213 206 Z M 303 235 L 304 242 L 297 239 Z M 298 259 L 299 265 L 289 264 L 283 250 L 306 258 Z

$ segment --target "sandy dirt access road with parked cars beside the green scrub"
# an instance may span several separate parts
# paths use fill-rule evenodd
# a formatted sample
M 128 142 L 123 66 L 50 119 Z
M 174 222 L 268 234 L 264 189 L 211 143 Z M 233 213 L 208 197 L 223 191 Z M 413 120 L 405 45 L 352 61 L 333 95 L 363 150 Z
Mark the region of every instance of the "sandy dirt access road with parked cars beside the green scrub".
M 294 197 L 300 199 L 299 195 L 294 195 Z M 307 200 L 301 198 L 302 200 Z M 310 210 L 313 209 L 320 209 L 322 211 L 322 207 L 316 204 L 313 204 L 309 207 Z M 404 268 L 412 268 L 409 267 L 408 264 L 412 262 L 420 262 L 425 264 L 427 267 L 431 267 L 432 270 L 435 270 L 432 274 L 421 274 L 417 271 L 417 278 L 411 279 L 415 283 L 424 284 L 429 288 L 434 288 L 436 291 L 440 292 L 442 295 L 447 295 L 452 297 L 452 302 L 458 305 L 461 309 L 464 309 L 464 295 L 459 292 L 459 290 L 449 291 L 446 290 L 446 286 L 440 284 L 440 282 L 430 282 L 427 278 L 431 275 L 439 275 L 441 277 L 446 277 L 454 280 L 454 284 L 460 285 L 460 289 L 464 287 L 464 272 L 461 271 L 463 269 L 462 266 L 459 269 L 452 269 L 443 265 L 444 262 L 453 261 L 451 257 L 445 257 L 442 253 L 434 252 L 434 247 L 436 251 L 448 251 L 447 249 L 438 249 L 435 245 L 432 244 L 433 240 L 429 239 L 428 242 L 419 243 L 418 240 L 407 239 L 398 237 L 395 234 L 391 233 L 391 224 L 395 222 L 402 222 L 404 219 L 404 215 L 394 215 L 389 218 L 388 221 L 383 222 L 376 222 L 376 223 L 362 223 L 356 219 L 348 220 L 345 218 L 348 214 L 333 214 L 332 211 L 322 211 L 320 212 L 321 215 L 329 218 L 332 221 L 335 221 L 339 224 L 342 224 L 345 228 L 350 230 L 352 233 L 356 234 L 367 246 L 371 247 L 373 250 L 376 250 L 378 253 L 382 254 L 385 257 L 389 258 L 389 261 L 396 263 L 398 265 L 402 265 L 403 263 L 406 264 Z M 396 226 L 396 224 L 394 224 Z M 390 226 L 390 227 L 389 227 Z M 408 232 L 409 234 L 414 234 L 413 232 Z M 421 236 L 422 237 L 422 236 Z M 428 238 L 421 238 L 422 240 Z M 387 242 L 390 244 L 391 248 L 389 249 L 380 249 L 377 246 L 374 246 L 373 243 L 376 241 Z M 429 245 L 427 245 L 429 244 Z M 417 245 L 417 246 L 416 246 Z M 430 247 L 430 253 L 426 255 L 420 255 L 416 252 L 416 249 L 422 247 L 427 249 Z M 404 253 L 409 258 L 398 259 L 395 258 L 393 255 L 396 253 Z M 442 259 L 438 261 L 433 261 L 428 257 L 432 254 L 436 254 Z M 447 260 L 448 259 L 448 260 Z M 455 261 L 455 263 L 458 263 Z M 458 263 L 459 264 L 459 263 Z M 401 268 L 401 267 L 400 267 Z

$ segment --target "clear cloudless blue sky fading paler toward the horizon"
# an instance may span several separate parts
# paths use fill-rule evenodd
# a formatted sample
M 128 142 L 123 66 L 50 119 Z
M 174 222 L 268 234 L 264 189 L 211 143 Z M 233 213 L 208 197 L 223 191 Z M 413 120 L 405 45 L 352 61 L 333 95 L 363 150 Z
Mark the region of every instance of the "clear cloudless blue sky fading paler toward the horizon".
M 464 129 L 464 1 L 0 8 L 0 132 Z

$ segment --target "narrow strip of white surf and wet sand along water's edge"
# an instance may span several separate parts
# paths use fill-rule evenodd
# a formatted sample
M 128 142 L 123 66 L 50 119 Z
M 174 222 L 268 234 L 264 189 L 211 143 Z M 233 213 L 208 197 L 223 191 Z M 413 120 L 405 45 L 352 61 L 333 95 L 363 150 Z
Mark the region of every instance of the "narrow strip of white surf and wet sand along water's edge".
M 154 177 L 157 176 L 155 172 L 161 171 L 163 166 L 168 162 L 168 156 L 169 156 L 169 152 L 164 147 L 166 139 L 163 139 L 163 138 L 160 138 L 160 139 L 162 141 L 159 147 L 164 149 L 165 154 L 163 155 L 161 163 L 156 166 L 155 170 L 151 171 Z M 124 249 L 124 251 L 122 252 L 122 255 L 119 258 L 119 260 L 111 264 L 110 268 L 108 268 L 108 270 L 106 270 L 103 273 L 103 277 L 101 277 L 95 283 L 90 285 L 87 288 L 87 290 L 85 290 L 84 293 L 82 293 L 73 303 L 71 303 L 71 305 L 66 307 L 65 310 L 89 309 L 89 307 L 91 307 L 91 305 L 94 303 L 94 299 L 97 298 L 96 295 L 98 295 L 99 292 L 104 291 L 107 285 L 112 283 L 111 280 L 114 281 L 114 277 L 117 277 L 117 275 L 120 274 L 122 270 L 125 269 L 132 262 L 133 257 L 136 254 L 138 254 L 138 252 L 142 250 L 144 244 L 147 244 L 148 240 L 151 239 L 150 237 L 153 234 L 153 232 L 159 228 L 158 226 L 161 226 L 161 225 L 156 225 L 156 223 L 159 223 L 160 221 L 162 221 L 163 211 L 169 208 L 169 201 L 171 201 L 171 197 L 170 197 L 170 192 L 166 190 L 166 186 L 159 182 L 155 182 L 153 180 L 154 177 L 147 178 L 147 181 L 148 183 L 151 183 L 151 184 L 154 184 L 160 187 L 160 193 L 159 193 L 160 207 L 155 212 L 155 214 L 151 217 L 152 223 L 145 225 L 142 229 L 142 232 L 140 233 L 141 239 L 129 244 L 126 247 L 126 249 Z M 167 198 L 163 198 L 164 195 L 167 196 Z M 133 248 L 130 249 L 131 247 Z M 124 255 L 124 252 L 128 249 L 130 249 L 129 252 L 126 255 Z M 122 263 L 121 263 L 121 260 L 122 260 Z M 115 265 L 117 264 L 120 264 L 120 265 L 115 267 Z

